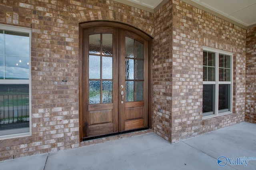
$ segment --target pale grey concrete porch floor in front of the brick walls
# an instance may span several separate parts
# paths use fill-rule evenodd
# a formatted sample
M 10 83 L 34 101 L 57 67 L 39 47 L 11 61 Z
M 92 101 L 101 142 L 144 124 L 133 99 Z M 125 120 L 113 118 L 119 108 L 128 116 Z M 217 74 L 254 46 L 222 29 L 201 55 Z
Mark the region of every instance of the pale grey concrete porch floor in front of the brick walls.
M 76 149 L 5 160 L 0 162 L 0 169 L 256 170 L 256 160 L 242 161 L 240 157 L 244 156 L 256 157 L 256 124 L 242 122 L 174 144 L 155 133 L 147 133 Z M 227 164 L 219 166 L 218 158 L 220 165 Z M 240 165 L 234 165 L 237 162 Z

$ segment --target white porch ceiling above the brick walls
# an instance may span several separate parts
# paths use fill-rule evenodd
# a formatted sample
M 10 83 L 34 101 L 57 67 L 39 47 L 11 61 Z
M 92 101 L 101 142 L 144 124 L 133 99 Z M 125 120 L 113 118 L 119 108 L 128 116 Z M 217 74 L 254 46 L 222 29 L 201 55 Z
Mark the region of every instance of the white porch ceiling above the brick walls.
M 167 0 L 128 0 L 150 9 Z M 256 0 L 183 0 L 194 2 L 246 27 L 256 24 Z

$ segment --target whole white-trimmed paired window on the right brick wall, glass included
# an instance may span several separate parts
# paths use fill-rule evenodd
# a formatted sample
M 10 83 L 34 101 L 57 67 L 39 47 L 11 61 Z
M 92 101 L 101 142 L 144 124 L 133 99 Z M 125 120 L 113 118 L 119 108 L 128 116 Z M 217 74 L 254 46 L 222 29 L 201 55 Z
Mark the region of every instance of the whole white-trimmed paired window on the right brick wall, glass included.
M 232 58 L 232 53 L 204 47 L 204 117 L 232 112 Z

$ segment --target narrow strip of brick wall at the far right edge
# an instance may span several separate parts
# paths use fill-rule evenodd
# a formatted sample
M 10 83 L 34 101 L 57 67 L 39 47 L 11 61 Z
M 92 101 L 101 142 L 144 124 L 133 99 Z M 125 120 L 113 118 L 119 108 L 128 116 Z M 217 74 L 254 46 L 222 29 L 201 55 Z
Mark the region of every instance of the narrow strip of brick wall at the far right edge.
M 245 120 L 256 123 L 256 27 L 246 36 L 246 113 Z

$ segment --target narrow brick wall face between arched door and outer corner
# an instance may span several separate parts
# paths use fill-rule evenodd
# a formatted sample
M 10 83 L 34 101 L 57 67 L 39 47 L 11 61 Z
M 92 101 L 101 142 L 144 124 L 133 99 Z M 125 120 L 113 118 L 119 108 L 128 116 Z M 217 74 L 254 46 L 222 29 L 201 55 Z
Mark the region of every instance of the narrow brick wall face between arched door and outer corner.
M 153 40 L 153 128 L 171 141 L 172 111 L 172 2 L 154 14 Z

